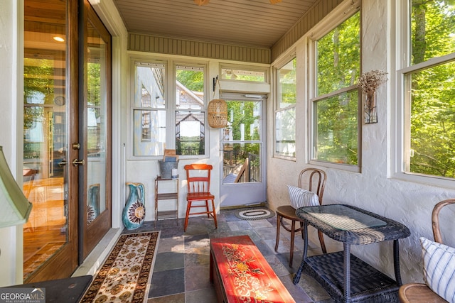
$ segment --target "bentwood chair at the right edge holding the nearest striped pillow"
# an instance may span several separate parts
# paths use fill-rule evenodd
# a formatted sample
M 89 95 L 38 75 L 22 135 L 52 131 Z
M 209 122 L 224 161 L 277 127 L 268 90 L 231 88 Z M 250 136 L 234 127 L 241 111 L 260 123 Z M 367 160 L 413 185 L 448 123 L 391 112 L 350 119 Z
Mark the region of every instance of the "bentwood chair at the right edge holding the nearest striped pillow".
M 439 202 L 434 206 L 432 213 L 432 225 L 433 225 L 433 236 L 434 241 L 442 243 L 441 229 L 439 228 L 439 211 L 449 204 L 455 204 L 455 199 L 447 199 Z M 400 302 L 403 303 L 439 303 L 446 302 L 434 293 L 426 284 L 424 283 L 408 283 L 402 285 L 398 291 L 398 298 Z

